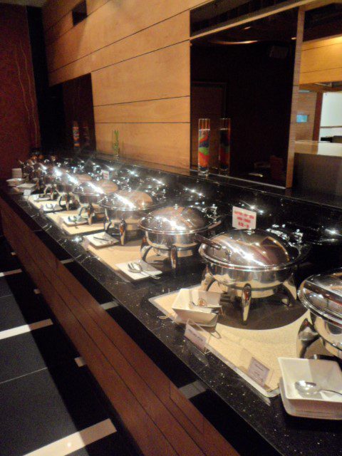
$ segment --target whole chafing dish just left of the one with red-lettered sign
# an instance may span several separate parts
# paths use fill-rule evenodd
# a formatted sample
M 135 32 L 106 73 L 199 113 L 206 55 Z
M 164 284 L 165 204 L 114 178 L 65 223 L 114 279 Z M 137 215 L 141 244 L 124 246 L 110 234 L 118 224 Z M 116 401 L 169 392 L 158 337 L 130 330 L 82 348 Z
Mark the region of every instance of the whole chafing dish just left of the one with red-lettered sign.
M 147 262 L 150 252 L 167 257 L 175 271 L 181 258 L 192 257 L 197 253 L 199 241 L 196 235 L 208 234 L 221 222 L 216 210 L 205 208 L 201 211 L 190 205 L 174 204 L 150 212 L 139 224 L 144 232 L 141 257 Z

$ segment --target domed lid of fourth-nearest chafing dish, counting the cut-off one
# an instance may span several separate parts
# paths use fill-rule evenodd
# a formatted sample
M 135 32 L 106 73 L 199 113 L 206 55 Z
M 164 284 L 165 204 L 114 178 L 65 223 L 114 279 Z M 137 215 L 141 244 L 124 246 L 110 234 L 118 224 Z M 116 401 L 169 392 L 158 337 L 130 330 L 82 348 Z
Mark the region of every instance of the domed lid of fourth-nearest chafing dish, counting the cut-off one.
M 155 201 L 146 192 L 138 190 L 119 190 L 106 195 L 101 201 L 101 206 L 108 209 L 135 210 L 152 207 Z

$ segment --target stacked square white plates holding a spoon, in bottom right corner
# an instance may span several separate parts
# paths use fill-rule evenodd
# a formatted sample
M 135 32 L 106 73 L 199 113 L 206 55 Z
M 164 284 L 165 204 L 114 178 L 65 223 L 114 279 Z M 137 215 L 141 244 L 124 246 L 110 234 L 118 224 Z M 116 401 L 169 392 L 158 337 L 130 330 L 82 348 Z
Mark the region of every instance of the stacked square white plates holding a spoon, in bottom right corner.
M 281 399 L 289 415 L 323 420 L 342 420 L 342 395 L 321 391 L 311 395 L 300 393 L 296 381 L 313 382 L 320 389 L 342 393 L 342 372 L 336 361 L 279 358 L 282 378 Z

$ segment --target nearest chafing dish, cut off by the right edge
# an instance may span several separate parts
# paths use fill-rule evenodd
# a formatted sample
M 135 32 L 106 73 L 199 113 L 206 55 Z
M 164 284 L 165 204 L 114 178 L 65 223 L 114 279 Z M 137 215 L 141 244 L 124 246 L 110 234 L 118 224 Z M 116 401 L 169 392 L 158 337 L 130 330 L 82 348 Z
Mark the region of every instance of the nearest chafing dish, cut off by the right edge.
M 304 355 L 308 341 L 321 338 L 330 353 L 342 358 L 342 269 L 310 276 L 298 295 L 311 318 L 299 330 L 299 356 Z

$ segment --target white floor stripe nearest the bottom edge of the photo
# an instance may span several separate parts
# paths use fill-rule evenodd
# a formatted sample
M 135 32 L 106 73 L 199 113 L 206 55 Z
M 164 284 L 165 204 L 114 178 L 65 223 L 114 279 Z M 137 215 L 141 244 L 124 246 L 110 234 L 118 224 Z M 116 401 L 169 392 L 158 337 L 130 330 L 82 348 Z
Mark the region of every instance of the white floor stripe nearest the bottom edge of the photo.
M 38 450 L 27 453 L 25 456 L 70 455 L 72 452 L 81 450 L 81 448 L 86 447 L 86 445 L 90 445 L 90 443 L 103 439 L 114 432 L 116 432 L 115 426 L 108 418 L 108 420 L 86 427 L 86 429 L 83 429 L 80 432 L 75 432 L 74 434 L 68 435 L 68 437 L 56 440 L 56 442 L 50 443 L 45 447 L 41 447 L 38 448 Z

